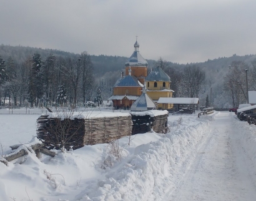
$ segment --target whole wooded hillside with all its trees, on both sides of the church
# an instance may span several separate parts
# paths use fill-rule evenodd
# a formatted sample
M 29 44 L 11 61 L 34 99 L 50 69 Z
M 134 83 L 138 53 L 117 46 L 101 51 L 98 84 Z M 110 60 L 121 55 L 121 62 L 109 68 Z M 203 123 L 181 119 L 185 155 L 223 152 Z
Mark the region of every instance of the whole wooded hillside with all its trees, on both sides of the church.
M 112 96 L 127 59 L 2 44 L 1 105 L 99 105 Z M 170 76 L 174 97 L 199 97 L 200 105 L 228 108 L 246 103 L 245 69 L 249 91 L 256 89 L 255 55 L 234 54 L 190 64 L 165 61 L 160 56 L 158 61 L 146 60 L 148 73 L 159 66 Z

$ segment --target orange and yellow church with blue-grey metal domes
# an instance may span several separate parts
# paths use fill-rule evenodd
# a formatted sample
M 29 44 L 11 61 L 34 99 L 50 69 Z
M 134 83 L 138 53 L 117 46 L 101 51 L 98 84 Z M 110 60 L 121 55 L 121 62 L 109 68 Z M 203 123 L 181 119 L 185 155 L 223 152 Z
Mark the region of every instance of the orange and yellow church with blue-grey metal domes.
M 109 98 L 115 109 L 130 109 L 140 96 L 151 99 L 155 104 L 154 109 L 172 108 L 172 104 L 157 104 L 160 97 L 172 97 L 174 91 L 170 89 L 170 77 L 160 67 L 147 74 L 147 66 L 147 61 L 140 55 L 139 42 L 136 40 L 134 52 L 125 63 L 125 75 L 121 73 L 113 87 L 113 96 Z M 152 109 L 152 104 L 146 108 Z

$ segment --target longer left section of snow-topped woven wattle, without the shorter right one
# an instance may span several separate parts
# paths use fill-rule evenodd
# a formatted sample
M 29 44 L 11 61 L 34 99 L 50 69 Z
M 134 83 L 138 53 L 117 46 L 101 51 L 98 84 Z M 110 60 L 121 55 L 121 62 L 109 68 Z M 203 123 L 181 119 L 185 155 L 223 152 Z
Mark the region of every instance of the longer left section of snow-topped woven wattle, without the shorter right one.
M 68 117 L 68 118 L 67 118 Z M 47 149 L 78 149 L 84 145 L 108 143 L 132 133 L 129 113 L 51 113 L 37 119 L 37 137 Z

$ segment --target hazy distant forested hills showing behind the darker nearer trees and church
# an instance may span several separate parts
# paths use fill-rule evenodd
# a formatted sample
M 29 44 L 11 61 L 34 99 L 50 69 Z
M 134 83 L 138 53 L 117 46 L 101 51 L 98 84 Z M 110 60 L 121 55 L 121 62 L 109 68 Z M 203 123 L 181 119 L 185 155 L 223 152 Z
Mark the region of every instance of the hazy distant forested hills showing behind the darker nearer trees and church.
M 54 49 L 41 49 L 35 47 L 23 47 L 23 46 L 6 46 L 0 45 L 0 57 L 7 61 L 8 57 L 11 56 L 16 64 L 22 64 L 31 57 L 34 53 L 40 54 L 42 60 L 44 61 L 49 54 L 53 54 L 56 57 L 72 57 L 76 54 L 71 52 L 59 51 Z M 90 52 L 88 52 L 90 54 Z M 106 52 L 107 53 L 107 52 Z M 131 52 L 132 53 L 132 52 Z M 130 55 L 129 55 L 130 56 Z M 91 55 L 91 61 L 93 64 L 93 74 L 94 74 L 94 88 L 99 85 L 105 87 L 102 89 L 104 94 L 104 99 L 111 96 L 111 89 L 114 83 L 119 79 L 120 72 L 124 69 L 124 64 L 128 57 L 121 56 L 106 56 L 106 55 Z M 148 72 L 157 66 L 162 67 L 167 74 L 169 74 L 171 79 L 171 89 L 173 89 L 175 97 L 186 97 L 187 95 L 182 94 L 182 90 L 188 84 L 185 82 L 184 69 L 189 66 L 197 66 L 201 71 L 205 72 L 205 82 L 200 89 L 199 99 L 200 105 L 205 104 L 205 98 L 210 96 L 210 88 L 212 88 L 212 105 L 215 107 L 230 107 L 234 104 L 239 104 L 243 102 L 244 95 L 240 92 L 240 89 L 245 91 L 245 71 L 244 69 L 249 69 L 249 91 L 256 90 L 256 81 L 254 77 L 256 76 L 256 56 L 246 55 L 237 56 L 233 55 L 231 57 L 219 57 L 218 59 L 213 59 L 205 62 L 197 62 L 190 64 L 177 64 L 169 61 L 164 61 L 159 55 L 159 61 L 154 61 L 147 59 Z M 231 67 L 231 68 L 230 68 Z M 235 67 L 235 68 L 234 68 Z M 239 67 L 239 71 L 237 71 Z M 229 77 L 233 70 L 236 70 L 236 74 L 239 76 Z M 236 84 L 230 87 L 227 86 L 229 80 L 234 80 Z M 237 81 L 242 83 L 242 86 L 237 86 Z M 229 91 L 232 89 L 233 91 Z M 239 89 L 239 90 L 238 90 Z M 234 96 L 234 92 L 237 97 Z

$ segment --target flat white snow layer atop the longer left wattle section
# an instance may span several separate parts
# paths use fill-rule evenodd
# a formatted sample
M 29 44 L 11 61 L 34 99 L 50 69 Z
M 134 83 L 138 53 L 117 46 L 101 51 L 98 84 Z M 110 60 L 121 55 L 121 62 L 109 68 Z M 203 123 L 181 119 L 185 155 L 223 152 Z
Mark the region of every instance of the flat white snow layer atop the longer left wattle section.
M 84 111 L 84 112 L 51 112 L 47 113 L 48 119 L 57 118 L 57 119 L 97 119 L 104 117 L 125 117 L 129 116 L 129 113 L 122 112 L 102 112 L 102 111 Z

